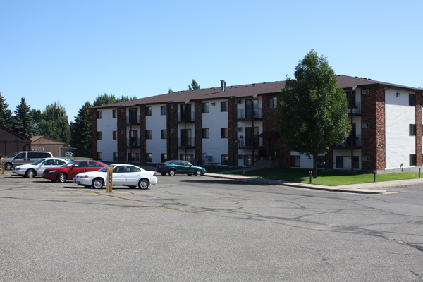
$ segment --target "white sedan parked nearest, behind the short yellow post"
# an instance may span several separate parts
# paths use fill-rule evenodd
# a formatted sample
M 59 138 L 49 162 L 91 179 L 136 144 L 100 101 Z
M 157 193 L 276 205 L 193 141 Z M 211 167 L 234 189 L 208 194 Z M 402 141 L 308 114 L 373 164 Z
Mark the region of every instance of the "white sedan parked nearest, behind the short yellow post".
M 129 188 L 139 187 L 147 189 L 149 185 L 157 184 L 157 177 L 155 171 L 146 171 L 138 166 L 132 164 L 111 164 L 99 171 L 90 171 L 85 173 L 78 173 L 73 182 L 82 185 L 85 188 L 100 189 L 106 185 L 107 168 L 112 167 L 112 184 L 113 186 L 129 186 Z

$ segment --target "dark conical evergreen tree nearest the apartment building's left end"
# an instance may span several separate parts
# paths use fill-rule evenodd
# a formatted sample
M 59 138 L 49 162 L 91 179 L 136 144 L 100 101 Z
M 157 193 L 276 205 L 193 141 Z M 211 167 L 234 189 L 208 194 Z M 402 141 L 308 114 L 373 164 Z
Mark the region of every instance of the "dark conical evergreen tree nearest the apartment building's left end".
M 75 123 L 71 123 L 72 147 L 92 148 L 92 114 L 90 108 L 90 102 L 85 102 L 78 111 L 78 116 L 75 116 Z M 87 154 L 86 157 L 90 157 L 90 154 Z

